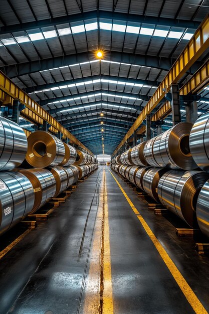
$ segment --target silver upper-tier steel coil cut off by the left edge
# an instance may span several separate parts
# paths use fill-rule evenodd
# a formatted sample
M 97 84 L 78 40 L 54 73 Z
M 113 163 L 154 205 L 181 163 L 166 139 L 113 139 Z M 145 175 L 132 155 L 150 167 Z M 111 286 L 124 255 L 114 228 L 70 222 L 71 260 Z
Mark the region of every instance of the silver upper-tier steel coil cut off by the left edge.
M 0 170 L 12 170 L 25 160 L 28 142 L 24 130 L 15 122 L 0 117 Z

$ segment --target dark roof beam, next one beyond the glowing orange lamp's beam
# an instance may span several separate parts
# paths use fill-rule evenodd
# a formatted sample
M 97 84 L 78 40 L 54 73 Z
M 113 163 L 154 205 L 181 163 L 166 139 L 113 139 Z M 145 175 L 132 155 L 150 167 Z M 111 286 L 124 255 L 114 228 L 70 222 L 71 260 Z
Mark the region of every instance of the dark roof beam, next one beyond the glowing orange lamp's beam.
M 89 81 L 89 77 L 91 77 L 91 81 L 103 79 L 103 80 L 113 80 L 113 81 L 119 81 L 123 83 L 133 83 L 133 84 L 143 84 L 148 86 L 158 86 L 160 82 L 156 81 L 149 81 L 149 80 L 141 80 L 141 79 L 132 79 L 132 78 L 124 78 L 121 76 L 111 76 L 111 75 L 89 75 L 85 76 L 83 78 L 78 79 L 72 79 L 72 80 L 66 80 L 66 81 L 60 81 L 60 82 L 53 82 L 49 84 L 42 84 L 42 85 L 35 85 L 32 87 L 23 88 L 27 94 L 33 93 L 42 89 L 47 88 L 53 88 L 53 87 L 59 87 L 62 85 L 70 85 L 70 84 L 79 84 L 82 82 Z M 110 83 L 113 84 L 113 83 Z

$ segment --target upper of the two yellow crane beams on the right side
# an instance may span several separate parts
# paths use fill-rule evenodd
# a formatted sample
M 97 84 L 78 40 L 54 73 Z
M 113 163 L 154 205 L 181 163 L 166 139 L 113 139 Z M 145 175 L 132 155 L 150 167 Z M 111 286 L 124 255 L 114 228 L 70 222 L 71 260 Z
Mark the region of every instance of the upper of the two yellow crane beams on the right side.
M 168 71 L 153 96 L 144 106 L 143 110 L 137 117 L 134 124 L 131 126 L 127 134 L 124 136 L 120 144 L 117 146 L 113 155 L 119 150 L 119 148 L 127 141 L 127 139 L 133 134 L 133 132 L 141 125 L 146 115 L 149 114 L 157 104 L 165 96 L 165 93 L 170 90 L 171 84 L 177 83 L 182 75 L 191 67 L 191 65 L 202 55 L 202 53 L 209 46 L 209 14 L 205 17 L 198 29 L 189 40 L 186 47 L 183 49 L 178 59 Z

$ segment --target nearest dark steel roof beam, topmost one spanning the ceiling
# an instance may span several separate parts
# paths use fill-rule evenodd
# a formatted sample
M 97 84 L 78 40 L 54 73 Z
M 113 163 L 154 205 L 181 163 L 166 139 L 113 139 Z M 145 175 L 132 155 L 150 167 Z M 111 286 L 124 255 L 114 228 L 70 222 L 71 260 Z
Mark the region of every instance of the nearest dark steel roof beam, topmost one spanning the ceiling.
M 181 19 L 169 19 L 169 18 L 160 18 L 160 17 L 152 17 L 148 15 L 136 15 L 136 14 L 125 14 L 125 13 L 117 13 L 110 11 L 91 11 L 91 12 L 83 12 L 74 15 L 62 16 L 57 18 L 50 18 L 41 21 L 33 21 L 27 23 L 19 23 L 15 25 L 7 25 L 1 27 L 2 34 L 8 34 L 19 31 L 27 31 L 34 30 L 37 28 L 48 27 L 48 26 L 56 26 L 58 24 L 65 23 L 73 23 L 73 22 L 83 22 L 85 20 L 90 19 L 111 19 L 117 21 L 128 21 L 135 23 L 148 23 L 153 25 L 166 25 L 166 26 L 177 26 L 183 28 L 193 28 L 196 29 L 199 26 L 199 22 L 195 21 L 187 21 Z M 87 22 L 87 21 L 85 21 Z

